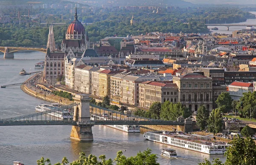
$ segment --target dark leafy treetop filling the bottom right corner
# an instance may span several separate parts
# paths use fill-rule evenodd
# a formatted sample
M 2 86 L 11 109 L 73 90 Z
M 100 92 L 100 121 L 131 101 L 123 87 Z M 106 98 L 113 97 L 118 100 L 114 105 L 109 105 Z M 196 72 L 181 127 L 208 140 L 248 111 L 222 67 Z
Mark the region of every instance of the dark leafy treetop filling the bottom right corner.
M 212 163 L 205 160 L 199 165 L 256 165 L 256 144 L 252 138 L 244 139 L 237 136 L 230 144 L 224 154 L 227 157 L 225 163 L 215 159 Z

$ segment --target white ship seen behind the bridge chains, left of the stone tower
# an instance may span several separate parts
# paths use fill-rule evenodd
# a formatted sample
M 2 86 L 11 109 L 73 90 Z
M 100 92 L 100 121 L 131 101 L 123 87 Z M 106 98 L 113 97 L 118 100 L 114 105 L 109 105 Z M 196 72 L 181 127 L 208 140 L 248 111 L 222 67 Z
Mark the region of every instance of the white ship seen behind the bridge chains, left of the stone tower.
M 58 103 L 52 103 L 52 104 L 41 104 L 35 106 L 35 111 L 38 112 L 44 112 L 49 111 L 52 108 L 60 107 L 60 104 Z M 73 114 L 70 110 L 64 110 L 64 111 L 55 111 L 52 113 L 49 113 L 48 115 L 57 117 L 59 119 L 73 119 Z

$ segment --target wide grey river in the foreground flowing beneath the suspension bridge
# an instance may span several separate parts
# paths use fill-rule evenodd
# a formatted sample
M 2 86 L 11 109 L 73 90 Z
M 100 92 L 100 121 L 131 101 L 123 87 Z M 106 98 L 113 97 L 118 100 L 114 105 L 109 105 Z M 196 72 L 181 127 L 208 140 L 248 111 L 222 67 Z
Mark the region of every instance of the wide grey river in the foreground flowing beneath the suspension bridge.
M 15 53 L 14 59 L 3 59 L 0 54 L 0 85 L 24 82 L 29 75 L 20 76 L 19 71 L 35 71 L 35 63 L 44 60 L 44 53 L 23 51 Z M 20 87 L 0 88 L 0 118 L 15 117 L 35 113 L 35 105 L 43 100 L 31 97 Z M 151 148 L 154 154 L 160 154 L 161 148 L 170 147 L 177 151 L 178 158 L 168 159 L 159 156 L 161 165 L 197 165 L 205 158 L 220 158 L 223 155 L 201 154 L 143 138 L 143 134 L 127 134 L 107 126 L 93 127 L 93 142 L 78 142 L 70 139 L 71 126 L 2 126 L 0 128 L 0 165 L 12 165 L 21 161 L 25 165 L 35 165 L 42 156 L 50 158 L 52 163 L 61 161 L 63 156 L 71 161 L 79 158 L 79 152 L 96 156 L 105 154 L 114 159 L 116 152 L 122 150 L 125 156 L 134 156 L 139 151 Z M 126 151 L 124 151 L 124 149 Z

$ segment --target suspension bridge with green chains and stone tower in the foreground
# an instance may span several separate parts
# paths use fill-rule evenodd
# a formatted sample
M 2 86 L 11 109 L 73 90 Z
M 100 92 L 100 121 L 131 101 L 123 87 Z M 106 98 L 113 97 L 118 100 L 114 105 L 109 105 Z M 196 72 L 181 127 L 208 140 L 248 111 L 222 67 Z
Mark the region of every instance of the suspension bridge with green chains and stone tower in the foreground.
M 76 94 L 74 103 L 61 107 L 50 108 L 33 114 L 0 119 L 0 126 L 11 125 L 72 125 L 70 137 L 77 140 L 93 140 L 94 125 L 185 125 L 184 122 L 162 121 L 138 117 L 132 114 L 113 111 L 90 104 L 87 94 Z M 47 114 L 64 111 L 74 107 L 73 120 L 62 120 Z

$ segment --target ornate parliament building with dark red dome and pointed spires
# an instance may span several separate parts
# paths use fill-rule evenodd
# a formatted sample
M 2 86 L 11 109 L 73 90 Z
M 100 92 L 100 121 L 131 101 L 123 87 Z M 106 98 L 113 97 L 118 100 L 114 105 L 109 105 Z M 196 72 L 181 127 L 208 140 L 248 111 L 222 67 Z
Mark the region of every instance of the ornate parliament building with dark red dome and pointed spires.
M 87 49 L 92 49 L 91 51 L 86 51 Z M 44 67 L 44 78 L 45 80 L 54 85 L 57 82 L 58 76 L 65 75 L 68 70 L 68 66 L 65 66 L 65 60 L 72 60 L 74 57 L 79 58 L 82 55 L 84 57 L 95 57 L 97 54 L 93 48 L 90 48 L 90 42 L 84 30 L 84 26 L 77 18 L 77 12 L 75 14 L 75 19 L 67 28 L 66 33 L 63 36 L 61 46 L 56 48 L 55 39 L 53 33 L 53 26 L 49 28 L 49 36 L 47 42 L 47 53 L 45 56 L 45 67 Z M 96 56 L 98 57 L 98 56 Z M 72 76 L 74 67 L 73 63 L 67 60 L 66 63 L 72 65 L 72 71 L 70 72 Z M 66 71 L 65 71 L 66 70 Z M 67 78 L 67 76 L 65 76 Z

